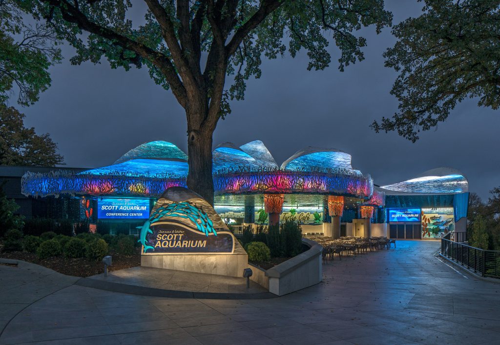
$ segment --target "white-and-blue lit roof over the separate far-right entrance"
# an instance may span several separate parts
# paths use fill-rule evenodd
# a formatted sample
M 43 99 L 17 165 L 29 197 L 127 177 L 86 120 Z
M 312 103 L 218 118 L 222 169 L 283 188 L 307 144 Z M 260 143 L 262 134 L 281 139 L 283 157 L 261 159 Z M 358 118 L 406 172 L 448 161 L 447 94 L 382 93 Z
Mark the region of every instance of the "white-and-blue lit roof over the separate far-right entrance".
M 468 191 L 468 182 L 463 174 L 451 168 L 436 168 L 425 171 L 406 181 L 383 185 L 387 194 L 438 194 L 463 193 Z

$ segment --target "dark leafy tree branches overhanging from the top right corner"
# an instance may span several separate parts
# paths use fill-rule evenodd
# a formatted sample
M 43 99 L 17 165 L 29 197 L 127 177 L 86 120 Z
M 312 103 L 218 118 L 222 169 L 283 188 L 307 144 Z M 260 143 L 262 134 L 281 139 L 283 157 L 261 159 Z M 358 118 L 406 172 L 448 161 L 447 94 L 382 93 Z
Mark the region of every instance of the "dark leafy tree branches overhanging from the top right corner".
M 394 26 L 397 42 L 384 53 L 385 66 L 399 72 L 391 90 L 399 110 L 371 125 L 413 142 L 467 97 L 500 105 L 500 1 L 424 2 L 423 14 Z

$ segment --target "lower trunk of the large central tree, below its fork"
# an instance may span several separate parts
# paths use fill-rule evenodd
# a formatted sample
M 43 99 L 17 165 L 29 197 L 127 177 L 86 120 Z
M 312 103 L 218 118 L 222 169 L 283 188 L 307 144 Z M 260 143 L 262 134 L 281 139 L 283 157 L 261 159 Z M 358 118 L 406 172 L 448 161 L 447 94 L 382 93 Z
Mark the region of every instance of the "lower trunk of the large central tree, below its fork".
M 188 128 L 187 187 L 198 193 L 207 202 L 213 205 L 212 179 L 212 134 L 209 128 L 191 130 Z

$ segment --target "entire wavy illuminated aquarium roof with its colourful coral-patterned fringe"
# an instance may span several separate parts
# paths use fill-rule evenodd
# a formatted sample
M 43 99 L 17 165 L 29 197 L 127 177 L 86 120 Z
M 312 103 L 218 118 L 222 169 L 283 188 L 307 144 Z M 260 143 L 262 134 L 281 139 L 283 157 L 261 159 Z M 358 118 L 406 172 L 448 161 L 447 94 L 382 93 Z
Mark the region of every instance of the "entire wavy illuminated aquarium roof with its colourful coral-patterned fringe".
M 212 152 L 215 195 L 322 194 L 364 199 L 381 206 L 385 194 L 461 193 L 466 178 L 457 170 L 438 168 L 413 179 L 374 190 L 369 174 L 351 166 L 351 156 L 332 148 L 306 147 L 279 167 L 262 141 L 240 147 L 230 142 Z M 168 141 L 143 143 L 112 165 L 63 174 L 26 173 L 21 181 L 25 195 L 142 195 L 157 196 L 167 187 L 185 186 L 187 155 Z

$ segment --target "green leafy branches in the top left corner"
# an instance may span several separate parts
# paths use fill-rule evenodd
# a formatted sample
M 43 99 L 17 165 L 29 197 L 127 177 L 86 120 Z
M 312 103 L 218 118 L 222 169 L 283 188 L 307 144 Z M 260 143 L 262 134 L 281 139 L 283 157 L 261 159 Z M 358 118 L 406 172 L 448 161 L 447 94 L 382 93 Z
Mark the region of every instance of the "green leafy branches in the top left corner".
M 29 105 L 50 85 L 48 67 L 61 59 L 55 31 L 39 19 L 30 1 L 0 1 L 0 102 L 18 91 L 17 102 Z

